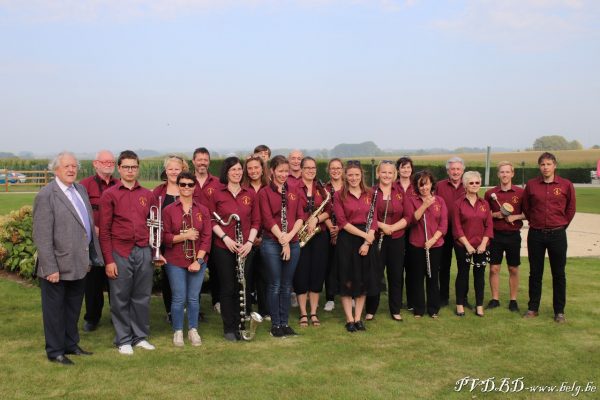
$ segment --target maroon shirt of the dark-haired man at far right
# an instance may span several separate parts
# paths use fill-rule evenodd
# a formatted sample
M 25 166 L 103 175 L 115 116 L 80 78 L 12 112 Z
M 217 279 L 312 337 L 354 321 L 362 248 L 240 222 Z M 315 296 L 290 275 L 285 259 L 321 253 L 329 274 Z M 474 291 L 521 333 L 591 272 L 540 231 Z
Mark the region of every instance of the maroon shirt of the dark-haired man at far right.
M 523 211 L 530 228 L 567 227 L 575 216 L 575 188 L 568 179 L 557 175 L 549 183 L 541 176 L 530 179 L 523 196 Z

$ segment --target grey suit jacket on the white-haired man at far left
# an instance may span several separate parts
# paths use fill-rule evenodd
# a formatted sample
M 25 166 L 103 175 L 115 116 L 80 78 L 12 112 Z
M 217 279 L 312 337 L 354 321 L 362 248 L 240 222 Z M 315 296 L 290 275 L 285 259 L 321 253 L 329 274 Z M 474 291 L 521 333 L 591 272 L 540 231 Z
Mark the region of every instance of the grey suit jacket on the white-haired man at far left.
M 33 240 L 38 250 L 37 275 L 45 278 L 55 272 L 61 280 L 82 279 L 90 265 L 104 265 L 94 231 L 92 206 L 85 188 L 74 183 L 88 211 L 92 240 L 69 198 L 56 181 L 39 191 L 33 203 Z

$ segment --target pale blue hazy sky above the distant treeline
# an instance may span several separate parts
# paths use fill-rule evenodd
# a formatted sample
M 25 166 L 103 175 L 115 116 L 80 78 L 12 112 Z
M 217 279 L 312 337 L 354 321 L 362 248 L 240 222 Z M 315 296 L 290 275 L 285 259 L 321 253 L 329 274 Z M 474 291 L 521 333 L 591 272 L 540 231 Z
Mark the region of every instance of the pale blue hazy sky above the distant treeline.
M 600 144 L 596 0 L 0 0 L 0 151 Z

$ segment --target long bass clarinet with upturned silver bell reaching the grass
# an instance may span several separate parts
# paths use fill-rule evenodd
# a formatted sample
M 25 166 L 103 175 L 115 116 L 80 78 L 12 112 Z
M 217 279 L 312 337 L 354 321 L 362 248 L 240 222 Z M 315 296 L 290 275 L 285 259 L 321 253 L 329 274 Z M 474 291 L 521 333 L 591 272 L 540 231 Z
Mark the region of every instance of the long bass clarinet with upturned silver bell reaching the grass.
M 237 214 L 230 214 L 229 219 L 227 221 L 223 221 L 223 219 L 217 214 L 213 212 L 217 222 L 223 226 L 227 226 L 231 223 L 232 219 L 235 219 L 235 242 L 238 245 L 244 243 L 244 235 L 242 233 L 242 223 L 240 221 L 240 216 Z M 240 324 L 239 324 L 239 334 L 244 340 L 252 340 L 256 335 L 256 328 L 258 328 L 258 324 L 263 321 L 262 316 L 257 312 L 252 312 L 250 315 L 247 313 L 247 300 L 246 300 L 246 276 L 244 274 L 244 269 L 246 266 L 246 257 L 242 257 L 241 255 L 237 255 L 237 266 L 235 268 L 238 283 L 240 285 Z M 245 325 L 247 322 L 250 322 L 250 329 L 245 329 Z

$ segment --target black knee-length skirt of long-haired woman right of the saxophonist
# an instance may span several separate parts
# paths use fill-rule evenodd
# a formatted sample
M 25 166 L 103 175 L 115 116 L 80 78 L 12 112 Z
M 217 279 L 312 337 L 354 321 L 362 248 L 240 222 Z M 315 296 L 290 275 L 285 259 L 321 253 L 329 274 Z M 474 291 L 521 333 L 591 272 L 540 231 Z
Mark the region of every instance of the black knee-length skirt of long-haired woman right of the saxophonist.
M 357 226 L 357 228 L 361 228 Z M 369 246 L 366 256 L 358 254 L 364 243 L 360 236 L 344 230 L 338 234 L 335 246 L 335 274 L 341 296 L 375 296 L 379 294 L 381 273 L 377 245 Z

